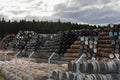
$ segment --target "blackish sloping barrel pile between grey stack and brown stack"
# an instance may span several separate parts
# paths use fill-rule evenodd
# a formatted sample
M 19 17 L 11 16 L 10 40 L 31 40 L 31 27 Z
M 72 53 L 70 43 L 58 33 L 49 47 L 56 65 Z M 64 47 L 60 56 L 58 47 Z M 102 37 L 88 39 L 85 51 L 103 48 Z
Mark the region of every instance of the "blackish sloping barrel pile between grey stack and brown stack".
M 60 40 L 60 48 L 59 53 L 61 56 L 67 51 L 71 44 L 77 40 L 77 37 L 80 34 L 80 30 L 71 30 L 71 31 L 64 31 L 61 36 Z

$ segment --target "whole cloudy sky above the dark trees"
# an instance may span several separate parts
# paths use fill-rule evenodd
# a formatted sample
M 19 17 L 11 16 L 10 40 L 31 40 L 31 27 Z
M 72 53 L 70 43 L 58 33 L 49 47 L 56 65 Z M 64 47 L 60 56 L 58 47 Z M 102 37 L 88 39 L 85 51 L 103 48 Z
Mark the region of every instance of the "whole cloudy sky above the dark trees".
M 120 0 L 0 0 L 0 18 L 120 23 Z

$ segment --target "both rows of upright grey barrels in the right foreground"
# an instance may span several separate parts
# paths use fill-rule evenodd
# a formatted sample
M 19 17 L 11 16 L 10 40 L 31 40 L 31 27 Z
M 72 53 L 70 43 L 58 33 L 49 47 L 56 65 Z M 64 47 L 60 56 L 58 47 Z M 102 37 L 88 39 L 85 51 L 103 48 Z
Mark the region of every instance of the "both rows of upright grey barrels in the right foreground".
M 79 62 L 79 75 L 76 62 L 68 63 L 68 70 L 53 71 L 53 80 L 120 80 L 120 62 L 117 60 L 87 60 Z

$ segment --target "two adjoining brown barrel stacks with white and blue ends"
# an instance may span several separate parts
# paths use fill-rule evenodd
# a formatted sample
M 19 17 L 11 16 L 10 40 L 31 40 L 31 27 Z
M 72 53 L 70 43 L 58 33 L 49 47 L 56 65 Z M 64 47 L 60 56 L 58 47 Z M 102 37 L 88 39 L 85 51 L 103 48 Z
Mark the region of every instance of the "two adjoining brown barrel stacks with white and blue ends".
M 62 59 L 75 60 L 82 53 L 86 58 L 115 58 L 120 56 L 120 25 L 108 25 L 99 30 L 81 30 L 79 37 L 66 50 Z

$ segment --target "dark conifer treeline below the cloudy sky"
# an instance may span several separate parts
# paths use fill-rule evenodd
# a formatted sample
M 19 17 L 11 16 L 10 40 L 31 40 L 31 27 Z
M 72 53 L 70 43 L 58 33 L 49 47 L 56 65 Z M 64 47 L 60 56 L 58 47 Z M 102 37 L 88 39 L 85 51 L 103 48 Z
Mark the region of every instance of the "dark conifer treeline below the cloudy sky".
M 87 24 L 77 24 L 70 22 L 48 22 L 48 21 L 26 21 L 21 20 L 17 21 L 5 21 L 4 18 L 0 19 L 0 36 L 3 37 L 7 34 L 14 33 L 16 34 L 18 31 L 22 30 L 32 30 L 37 33 L 56 33 L 58 31 L 72 30 L 72 29 L 95 29 L 97 28 L 95 25 L 87 25 Z

